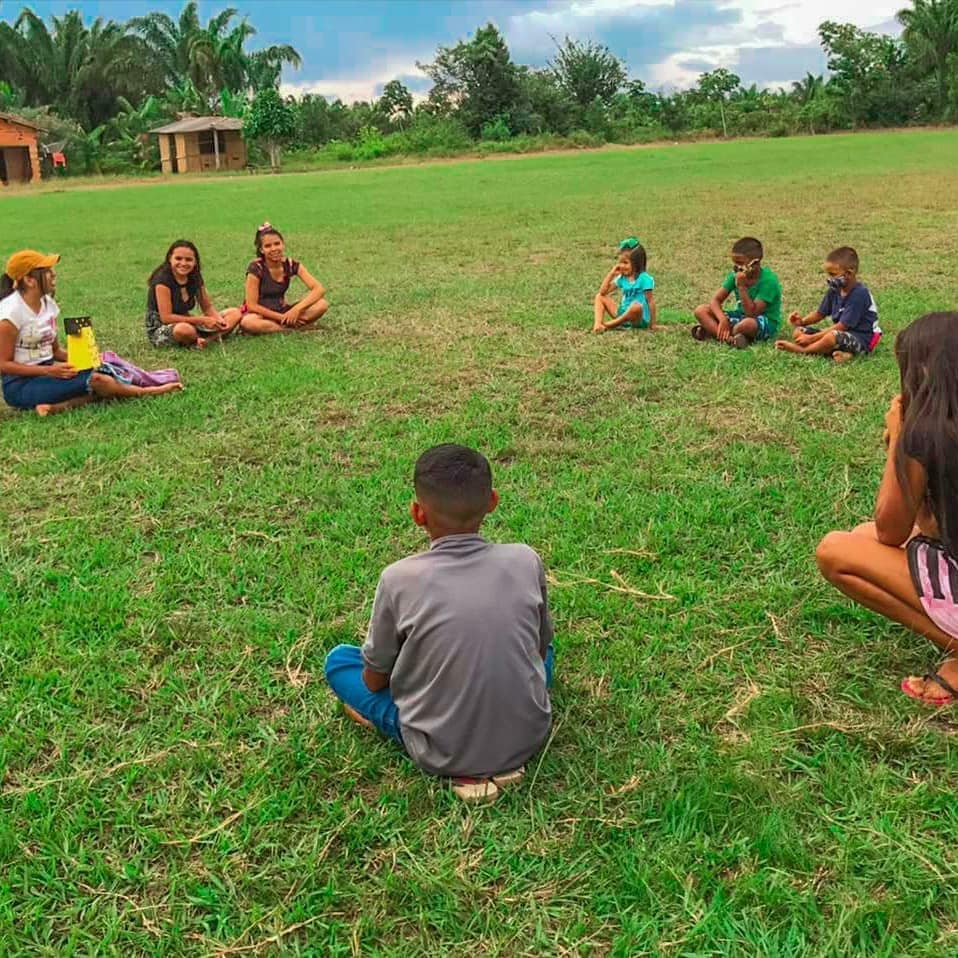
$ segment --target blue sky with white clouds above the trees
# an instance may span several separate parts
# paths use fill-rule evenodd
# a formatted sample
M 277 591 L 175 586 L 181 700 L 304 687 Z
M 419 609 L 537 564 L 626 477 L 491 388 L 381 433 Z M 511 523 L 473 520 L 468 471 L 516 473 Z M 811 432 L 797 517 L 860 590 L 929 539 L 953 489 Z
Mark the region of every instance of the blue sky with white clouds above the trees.
M 746 83 L 776 85 L 820 73 L 825 58 L 816 28 L 826 19 L 894 32 L 903 0 L 868 0 L 839 12 L 835 0 L 201 0 L 204 20 L 233 6 L 257 29 L 252 46 L 292 43 L 303 56 L 283 75 L 287 92 L 310 91 L 346 101 L 378 95 L 398 78 L 416 93 L 428 82 L 416 61 L 439 44 L 455 43 L 494 22 L 513 58 L 543 66 L 552 37 L 597 40 L 620 56 L 650 87 L 684 87 L 697 74 L 727 67 Z M 0 0 L 0 18 L 21 3 Z M 36 0 L 41 15 L 78 7 L 123 20 L 148 10 L 176 15 L 179 0 Z M 852 7 L 855 9 L 853 10 Z

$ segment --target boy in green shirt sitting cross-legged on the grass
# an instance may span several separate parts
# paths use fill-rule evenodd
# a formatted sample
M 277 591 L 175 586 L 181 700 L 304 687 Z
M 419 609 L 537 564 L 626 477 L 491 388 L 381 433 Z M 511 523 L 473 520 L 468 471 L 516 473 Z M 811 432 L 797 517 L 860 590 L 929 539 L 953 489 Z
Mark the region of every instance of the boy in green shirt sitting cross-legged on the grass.
M 782 284 L 762 265 L 762 244 L 745 236 L 732 247 L 732 272 L 708 303 L 695 309 L 697 323 L 692 338 L 717 339 L 738 349 L 753 342 L 774 339 L 782 322 Z M 735 309 L 722 304 L 735 294 Z

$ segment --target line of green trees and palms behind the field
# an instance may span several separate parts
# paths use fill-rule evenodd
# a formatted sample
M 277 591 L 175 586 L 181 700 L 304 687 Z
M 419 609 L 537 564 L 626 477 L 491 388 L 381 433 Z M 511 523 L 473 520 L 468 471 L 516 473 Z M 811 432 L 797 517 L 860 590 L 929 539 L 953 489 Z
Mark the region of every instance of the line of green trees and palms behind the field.
M 565 38 L 542 68 L 516 63 L 486 24 L 420 63 L 432 82 L 414 102 L 398 80 L 368 102 L 282 97 L 289 45 L 250 49 L 256 30 L 229 8 L 202 22 L 197 3 L 178 18 L 126 22 L 79 11 L 44 20 L 24 8 L 0 22 L 0 112 L 34 119 L 76 172 L 158 167 L 151 128 L 184 113 L 242 118 L 247 137 L 279 149 L 363 160 L 392 153 L 455 153 L 477 142 L 632 143 L 689 135 L 824 133 L 958 120 L 958 0 L 912 0 L 900 37 L 826 21 L 818 34 L 827 76 L 789 89 L 745 86 L 733 72 L 703 73 L 688 90 L 654 92 L 607 47 Z

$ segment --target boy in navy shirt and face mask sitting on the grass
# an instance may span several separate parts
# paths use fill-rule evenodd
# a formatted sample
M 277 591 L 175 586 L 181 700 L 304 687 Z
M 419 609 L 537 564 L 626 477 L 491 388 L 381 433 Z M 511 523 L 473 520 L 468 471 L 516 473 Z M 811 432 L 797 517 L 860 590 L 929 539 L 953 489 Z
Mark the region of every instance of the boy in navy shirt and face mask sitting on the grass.
M 795 328 L 794 339 L 776 343 L 789 353 L 831 356 L 844 362 L 870 353 L 881 339 L 878 307 L 868 287 L 858 281 L 858 253 L 850 246 L 840 246 L 825 258 L 828 290 L 814 312 L 802 316 L 792 313 L 788 320 Z M 820 330 L 814 324 L 826 317 L 833 325 Z

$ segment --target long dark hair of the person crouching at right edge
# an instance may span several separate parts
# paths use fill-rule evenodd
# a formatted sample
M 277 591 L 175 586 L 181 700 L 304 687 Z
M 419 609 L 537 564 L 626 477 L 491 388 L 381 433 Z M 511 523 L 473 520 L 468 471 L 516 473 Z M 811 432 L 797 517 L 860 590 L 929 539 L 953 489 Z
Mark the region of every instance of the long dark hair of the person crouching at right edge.
M 905 457 L 921 463 L 928 476 L 925 502 L 942 544 L 958 558 L 958 313 L 916 319 L 899 334 L 895 357 L 902 399 L 898 482 L 914 500 Z

